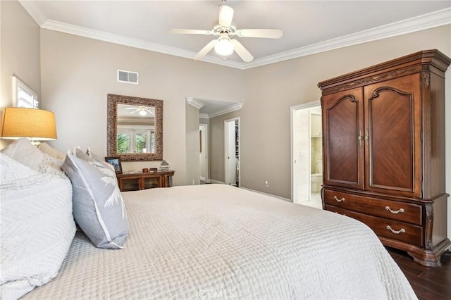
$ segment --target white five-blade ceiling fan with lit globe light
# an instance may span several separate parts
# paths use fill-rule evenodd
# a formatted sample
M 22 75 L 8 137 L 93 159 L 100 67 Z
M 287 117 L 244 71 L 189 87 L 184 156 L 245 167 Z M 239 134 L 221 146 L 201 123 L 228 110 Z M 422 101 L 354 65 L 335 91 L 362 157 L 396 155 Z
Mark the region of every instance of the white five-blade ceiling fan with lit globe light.
M 282 30 L 278 29 L 237 29 L 232 19 L 233 8 L 221 4 L 218 6 L 218 21 L 213 25 L 212 30 L 170 29 L 168 33 L 215 36 L 215 39 L 212 39 L 194 56 L 194 60 L 203 58 L 214 48 L 216 53 L 222 56 L 228 56 L 235 50 L 238 56 L 247 63 L 252 61 L 254 56 L 237 39 L 230 39 L 230 37 L 236 35 L 237 37 L 278 39 L 283 35 Z

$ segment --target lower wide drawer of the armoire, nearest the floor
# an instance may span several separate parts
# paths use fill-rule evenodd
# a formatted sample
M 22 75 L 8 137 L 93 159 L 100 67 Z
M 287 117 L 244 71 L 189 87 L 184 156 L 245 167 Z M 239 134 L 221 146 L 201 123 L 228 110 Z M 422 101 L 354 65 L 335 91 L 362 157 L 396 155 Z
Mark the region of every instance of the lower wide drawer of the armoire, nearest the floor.
M 348 217 L 365 223 L 371 227 L 371 229 L 379 237 L 387 237 L 388 239 L 396 239 L 415 246 L 423 246 L 423 227 L 421 226 L 395 220 L 388 220 L 385 218 L 378 218 L 373 215 L 364 215 L 363 213 L 355 213 L 354 211 L 348 211 L 347 209 L 330 205 L 326 205 L 326 210 L 347 215 Z

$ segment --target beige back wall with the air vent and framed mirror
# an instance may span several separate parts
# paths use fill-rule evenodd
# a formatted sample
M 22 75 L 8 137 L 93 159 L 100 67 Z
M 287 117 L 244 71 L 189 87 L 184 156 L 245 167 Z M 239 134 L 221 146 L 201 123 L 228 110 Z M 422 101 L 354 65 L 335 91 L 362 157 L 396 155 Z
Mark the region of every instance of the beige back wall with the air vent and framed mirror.
M 191 182 L 185 127 L 192 122 L 186 119 L 185 97 L 243 101 L 240 70 L 51 30 L 42 30 L 41 36 L 42 98 L 45 108 L 56 113 L 58 140 L 52 144 L 64 151 L 90 146 L 106 155 L 106 94 L 161 99 L 163 158 L 175 170 L 174 184 L 185 185 Z M 117 69 L 140 73 L 140 84 L 117 82 Z M 198 130 L 199 113 L 192 118 Z M 123 168 L 152 165 L 159 162 L 124 163 Z

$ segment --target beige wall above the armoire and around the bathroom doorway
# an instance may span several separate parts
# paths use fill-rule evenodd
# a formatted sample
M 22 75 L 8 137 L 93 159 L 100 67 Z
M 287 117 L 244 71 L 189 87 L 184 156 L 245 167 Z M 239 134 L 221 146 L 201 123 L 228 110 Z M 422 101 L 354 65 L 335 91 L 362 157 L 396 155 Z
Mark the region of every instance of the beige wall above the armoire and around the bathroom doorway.
M 451 26 L 245 70 L 245 104 L 240 113 L 242 186 L 290 198 L 290 106 L 318 101 L 321 91 L 316 85 L 321 80 L 424 49 L 451 56 Z M 451 115 L 451 68 L 446 75 L 447 115 Z M 450 177 L 448 172 L 448 191 Z M 265 180 L 271 182 L 268 189 Z

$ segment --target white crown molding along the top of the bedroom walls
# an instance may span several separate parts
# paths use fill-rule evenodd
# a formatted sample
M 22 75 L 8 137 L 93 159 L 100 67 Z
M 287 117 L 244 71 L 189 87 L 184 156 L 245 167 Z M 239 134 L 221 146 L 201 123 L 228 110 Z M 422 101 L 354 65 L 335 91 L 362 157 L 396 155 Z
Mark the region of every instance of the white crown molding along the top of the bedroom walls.
M 19 2 L 25 8 L 25 10 L 32 16 L 32 18 L 35 19 L 35 21 L 39 26 L 48 30 L 56 30 L 71 35 L 79 35 L 91 39 L 99 39 L 104 42 L 111 42 L 115 44 L 121 44 L 124 46 L 131 46 L 138 49 L 144 49 L 163 54 L 169 54 L 173 56 L 180 56 L 184 58 L 192 59 L 196 55 L 196 53 L 193 51 L 178 49 L 171 46 L 164 46 L 161 44 L 144 41 L 142 39 L 134 39 L 131 37 L 124 37 L 122 35 L 114 35 L 108 32 L 92 30 L 86 27 L 61 23 L 55 20 L 48 20 L 44 17 L 44 15 L 42 15 L 42 13 L 39 12 L 39 9 L 37 9 L 33 1 L 19 0 Z M 407 33 L 426 30 L 433 27 L 449 25 L 451 24 L 450 14 L 451 8 L 445 8 L 440 11 L 427 13 L 425 15 L 419 15 L 415 18 L 409 18 L 396 23 L 391 23 L 388 25 L 375 27 L 370 30 L 357 32 L 352 35 L 345 35 L 343 37 L 330 39 L 328 41 L 320 42 L 317 44 L 312 44 L 309 46 L 304 46 L 290 51 L 285 51 L 280 54 L 255 59 L 250 63 L 223 60 L 222 58 L 217 58 L 214 56 L 205 56 L 200 61 L 206 63 L 215 63 L 217 65 L 223 65 L 230 68 L 237 68 L 240 70 L 257 68 L 261 65 L 268 65 L 271 63 L 277 63 L 279 61 L 287 61 L 292 58 L 299 58 L 311 54 L 318 54 L 323 51 L 340 49 L 347 46 L 376 41 L 378 39 L 396 37 L 398 35 L 405 35 Z

